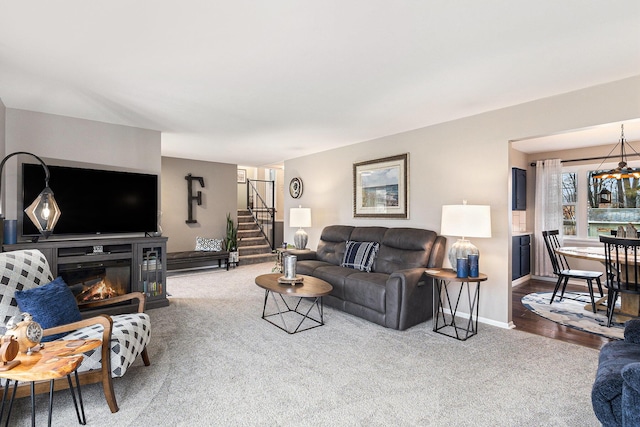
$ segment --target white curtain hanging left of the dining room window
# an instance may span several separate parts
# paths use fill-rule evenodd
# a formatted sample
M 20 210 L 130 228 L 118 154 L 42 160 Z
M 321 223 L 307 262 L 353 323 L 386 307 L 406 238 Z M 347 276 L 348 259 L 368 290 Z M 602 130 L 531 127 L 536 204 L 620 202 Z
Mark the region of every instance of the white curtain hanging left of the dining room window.
M 542 232 L 562 233 L 562 165 L 560 159 L 538 160 L 536 163 L 536 225 L 534 275 L 553 276 L 553 267 L 544 245 Z

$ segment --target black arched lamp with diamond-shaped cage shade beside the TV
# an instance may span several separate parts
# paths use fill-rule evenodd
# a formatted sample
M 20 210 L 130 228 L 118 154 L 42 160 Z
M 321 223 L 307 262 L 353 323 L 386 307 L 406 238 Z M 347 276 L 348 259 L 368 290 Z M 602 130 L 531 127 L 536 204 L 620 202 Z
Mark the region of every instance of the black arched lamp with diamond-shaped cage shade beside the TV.
M 35 154 L 27 153 L 26 151 L 16 151 L 7 155 L 2 162 L 0 162 L 0 252 L 2 252 L 2 243 L 4 242 L 4 214 L 2 213 L 2 171 L 4 170 L 4 164 L 11 157 L 18 154 L 24 154 L 34 157 L 44 169 L 44 189 L 40 192 L 38 197 L 25 208 L 25 213 L 38 228 L 40 234 L 46 239 L 53 232 L 53 228 L 56 226 L 58 219 L 60 219 L 61 211 L 56 203 L 56 199 L 53 197 L 53 191 L 49 188 L 49 168 L 42 161 L 42 159 Z

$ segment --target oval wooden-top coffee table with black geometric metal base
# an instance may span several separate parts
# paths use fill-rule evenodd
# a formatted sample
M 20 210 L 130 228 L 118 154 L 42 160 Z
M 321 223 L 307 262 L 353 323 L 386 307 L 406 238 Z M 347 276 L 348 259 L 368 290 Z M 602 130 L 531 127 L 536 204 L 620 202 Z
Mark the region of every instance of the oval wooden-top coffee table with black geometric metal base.
M 300 276 L 302 282 L 295 284 L 280 283 L 278 278 L 281 277 L 283 277 L 282 273 L 263 274 L 256 277 L 256 285 L 265 290 L 262 318 L 288 334 L 295 334 L 296 332 L 302 332 L 324 325 L 322 297 L 329 295 L 333 286 L 322 279 L 311 276 Z M 276 294 L 279 296 L 280 301 L 283 304 L 282 306 L 278 303 Z M 267 314 L 267 302 L 269 300 L 269 295 L 271 295 L 277 310 L 275 313 L 271 314 Z M 291 297 L 294 300 L 294 303 L 290 305 L 290 302 L 288 303 L 287 300 L 285 300 L 285 296 Z M 306 311 L 299 311 L 300 304 L 304 299 L 311 299 L 311 304 Z M 314 307 L 318 311 L 317 318 L 310 316 Z M 293 315 L 296 316 L 296 318 L 301 317 L 300 322 L 295 328 L 291 329 L 287 326 L 285 319 L 286 313 L 294 313 Z M 281 324 L 271 320 L 271 317 L 273 316 L 279 317 Z M 301 326 L 305 321 L 311 323 L 311 326 L 301 329 Z

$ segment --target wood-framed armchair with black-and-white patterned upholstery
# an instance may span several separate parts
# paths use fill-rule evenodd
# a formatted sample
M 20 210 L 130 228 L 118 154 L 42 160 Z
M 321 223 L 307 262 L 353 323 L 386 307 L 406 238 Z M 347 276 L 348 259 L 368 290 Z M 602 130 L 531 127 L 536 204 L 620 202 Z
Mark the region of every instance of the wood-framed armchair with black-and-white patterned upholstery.
M 46 285 L 52 280 L 49 264 L 40 251 L 0 253 L 0 322 L 3 322 L 0 326 L 6 325 L 12 316 L 21 313 L 14 296 L 16 291 Z M 78 373 L 81 384 L 102 383 L 111 412 L 118 411 L 112 377 L 123 376 L 138 355 L 141 355 L 146 366 L 150 364 L 147 344 L 151 336 L 151 322 L 144 313 L 145 296 L 140 292 L 133 292 L 86 305 L 99 309 L 135 299 L 139 301 L 136 313 L 112 316 L 102 314 L 44 331 L 45 336 L 65 334 L 62 339 L 102 340 L 101 347 L 84 354 Z M 60 382 L 61 386 L 64 384 L 66 382 Z M 48 387 L 43 387 L 42 391 L 47 389 Z

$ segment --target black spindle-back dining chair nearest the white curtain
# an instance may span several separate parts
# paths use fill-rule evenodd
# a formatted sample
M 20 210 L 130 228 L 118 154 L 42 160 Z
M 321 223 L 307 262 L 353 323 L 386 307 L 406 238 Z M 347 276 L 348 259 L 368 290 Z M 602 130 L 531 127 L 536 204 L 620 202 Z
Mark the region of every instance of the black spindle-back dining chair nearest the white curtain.
M 551 258 L 551 264 L 553 265 L 553 272 L 558 276 L 558 281 L 556 282 L 556 287 L 553 289 L 553 295 L 551 296 L 551 301 L 549 304 L 553 304 L 553 300 L 560 289 L 560 285 L 562 285 L 562 291 L 560 292 L 560 299 L 558 301 L 562 301 L 564 297 L 564 291 L 567 289 L 567 283 L 569 279 L 581 279 L 587 281 L 587 287 L 589 288 L 589 296 L 591 297 L 591 308 L 594 313 L 597 313 L 596 301 L 593 297 L 593 281 L 596 281 L 598 285 L 598 291 L 600 292 L 600 296 L 603 296 L 602 293 L 602 282 L 600 282 L 600 277 L 602 276 L 601 271 L 589 271 L 589 270 L 572 270 L 567 262 L 567 259 L 556 252 L 556 249 L 560 248 L 560 239 L 558 238 L 560 232 L 558 230 L 550 230 L 543 231 L 542 237 L 544 238 L 544 244 L 547 247 L 547 252 L 549 252 L 549 257 Z

